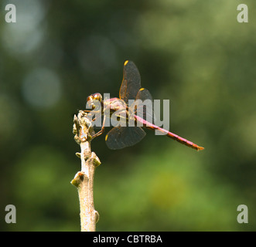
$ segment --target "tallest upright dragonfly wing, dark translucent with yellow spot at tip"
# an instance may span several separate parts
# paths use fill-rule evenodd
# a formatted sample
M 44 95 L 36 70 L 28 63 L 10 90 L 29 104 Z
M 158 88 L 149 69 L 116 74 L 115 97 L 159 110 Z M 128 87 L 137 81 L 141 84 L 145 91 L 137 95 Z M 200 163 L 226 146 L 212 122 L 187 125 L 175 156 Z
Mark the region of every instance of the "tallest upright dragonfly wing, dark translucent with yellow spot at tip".
M 124 64 L 124 75 L 119 91 L 119 98 L 125 100 L 135 100 L 138 90 L 141 88 L 141 76 L 138 72 L 135 63 L 131 61 L 125 61 Z

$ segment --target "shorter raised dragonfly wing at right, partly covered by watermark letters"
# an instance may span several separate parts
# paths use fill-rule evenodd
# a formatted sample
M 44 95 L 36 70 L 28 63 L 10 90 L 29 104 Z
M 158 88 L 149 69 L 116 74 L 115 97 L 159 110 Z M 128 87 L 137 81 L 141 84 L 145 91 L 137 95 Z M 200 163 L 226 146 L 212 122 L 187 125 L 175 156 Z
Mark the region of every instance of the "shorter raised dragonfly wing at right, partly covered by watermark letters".
M 145 88 L 138 90 L 134 105 L 131 105 L 131 109 L 138 117 L 142 117 L 149 123 L 154 123 L 154 102 L 151 94 Z

